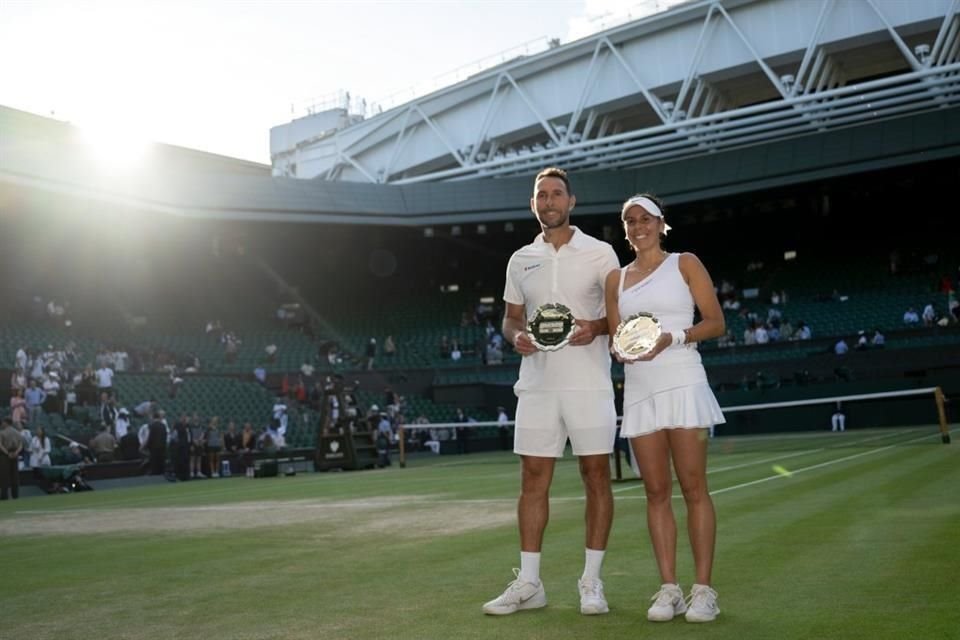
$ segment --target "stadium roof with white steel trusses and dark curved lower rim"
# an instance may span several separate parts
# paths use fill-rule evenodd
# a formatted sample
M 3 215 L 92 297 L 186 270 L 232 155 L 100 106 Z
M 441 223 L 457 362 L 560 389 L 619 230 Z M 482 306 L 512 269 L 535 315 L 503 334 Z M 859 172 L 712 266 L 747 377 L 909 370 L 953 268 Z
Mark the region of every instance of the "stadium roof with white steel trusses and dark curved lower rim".
M 954 158 L 958 11 L 960 0 L 692 2 L 500 65 L 297 147 L 301 158 L 328 143 L 350 155 L 345 145 L 355 139 L 351 149 L 367 150 L 350 156 L 361 164 L 376 159 L 390 136 L 396 149 L 426 135 L 429 149 L 451 132 L 470 138 L 481 120 L 487 133 L 519 126 L 562 143 L 482 161 L 474 147 L 470 162 L 446 149 L 403 170 L 396 165 L 383 180 L 367 180 L 377 176 L 370 171 L 348 179 L 353 169 L 343 162 L 353 165 L 342 158 L 340 169 L 326 172 L 330 179 L 302 179 L 287 170 L 286 156 L 275 157 L 271 175 L 265 165 L 167 145 L 156 145 L 136 171 L 105 173 L 70 125 L 0 107 L 0 211 L 82 203 L 199 219 L 427 226 L 524 219 L 532 177 L 549 165 L 572 171 L 578 212 L 609 214 L 639 191 L 679 204 Z M 662 82 L 643 81 L 637 70 L 659 68 L 663 50 L 676 60 L 658 71 Z M 656 64 L 638 67 L 637 56 Z M 495 110 L 508 94 L 522 103 L 571 78 L 585 88 L 559 116 L 538 118 L 525 105 L 514 110 L 528 120 L 520 126 Z M 591 87 L 605 83 L 612 88 L 604 91 L 622 95 L 600 100 L 606 94 Z M 608 108 L 587 126 L 591 109 Z M 399 127 L 403 113 L 434 127 L 426 120 Z M 471 113 L 477 117 L 465 117 Z M 604 117 L 620 124 L 602 127 Z M 297 175 L 306 166 L 298 164 Z

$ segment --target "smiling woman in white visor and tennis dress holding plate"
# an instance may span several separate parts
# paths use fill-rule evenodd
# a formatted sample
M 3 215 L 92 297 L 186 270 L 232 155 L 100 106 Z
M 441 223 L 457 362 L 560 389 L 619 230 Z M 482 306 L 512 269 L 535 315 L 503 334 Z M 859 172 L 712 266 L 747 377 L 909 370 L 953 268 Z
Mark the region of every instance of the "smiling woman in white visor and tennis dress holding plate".
M 621 319 L 653 314 L 662 329 L 646 355 L 623 360 L 625 372 L 621 435 L 640 465 L 647 494 L 647 525 L 662 585 L 647 618 L 709 622 L 720 613 L 710 586 L 716 516 L 707 490 L 707 428 L 725 422 L 707 383 L 696 343 L 726 330 L 710 274 L 692 253 L 667 253 L 661 237 L 670 229 L 663 205 L 650 195 L 634 196 L 621 210 L 627 241 L 636 258 L 606 279 L 610 335 Z M 694 307 L 701 320 L 694 324 Z M 677 524 L 671 506 L 670 461 L 687 506 L 696 583 L 684 599 L 677 583 Z

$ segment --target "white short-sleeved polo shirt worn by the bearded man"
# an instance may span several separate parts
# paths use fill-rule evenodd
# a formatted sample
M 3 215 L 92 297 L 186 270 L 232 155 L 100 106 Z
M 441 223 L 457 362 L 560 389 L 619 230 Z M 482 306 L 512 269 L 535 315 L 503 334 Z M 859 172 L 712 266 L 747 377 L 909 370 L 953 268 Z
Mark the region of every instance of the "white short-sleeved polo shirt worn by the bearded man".
M 617 254 L 606 242 L 571 228 L 573 236 L 559 250 L 545 242 L 541 233 L 507 264 L 503 299 L 523 305 L 528 319 L 537 307 L 550 302 L 569 307 L 578 320 L 607 315 L 603 286 L 607 274 L 620 266 Z M 612 392 L 607 344 L 604 335 L 589 345 L 524 356 L 514 390 Z

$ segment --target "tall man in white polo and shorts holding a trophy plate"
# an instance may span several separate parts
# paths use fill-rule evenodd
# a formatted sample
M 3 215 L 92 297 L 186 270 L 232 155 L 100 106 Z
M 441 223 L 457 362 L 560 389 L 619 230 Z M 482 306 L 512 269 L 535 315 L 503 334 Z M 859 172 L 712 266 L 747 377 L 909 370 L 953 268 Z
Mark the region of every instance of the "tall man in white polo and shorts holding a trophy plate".
M 586 563 L 577 583 L 580 612 L 606 613 L 600 580 L 613 495 L 609 455 L 613 451 L 616 410 L 610 380 L 610 354 L 604 318 L 603 283 L 617 266 L 606 242 L 570 225 L 576 198 L 567 174 L 544 169 L 534 182 L 530 209 L 543 232 L 513 254 L 507 265 L 503 299 L 503 335 L 523 356 L 514 386 L 518 398 L 514 452 L 521 457 L 517 506 L 520 570 L 484 613 L 505 615 L 547 604 L 540 581 L 540 549 L 549 515 L 549 490 L 556 459 L 567 438 L 579 457 L 586 492 Z M 526 333 L 526 322 L 544 304 L 568 307 L 576 321 L 569 344 L 540 351 Z

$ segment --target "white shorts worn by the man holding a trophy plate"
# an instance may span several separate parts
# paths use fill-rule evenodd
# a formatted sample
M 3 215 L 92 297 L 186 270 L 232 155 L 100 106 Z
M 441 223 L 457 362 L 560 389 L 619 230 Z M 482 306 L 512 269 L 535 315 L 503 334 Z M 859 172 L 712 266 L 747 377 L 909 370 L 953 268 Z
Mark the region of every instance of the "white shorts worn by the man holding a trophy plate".
M 517 394 L 513 452 L 562 458 L 570 438 L 573 454 L 609 454 L 617 430 L 613 391 L 522 391 Z

